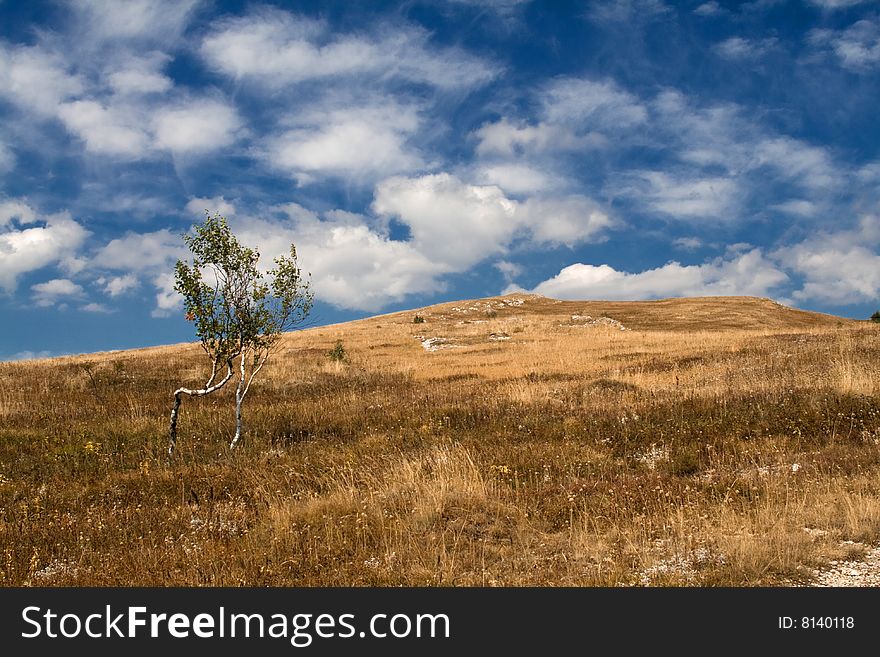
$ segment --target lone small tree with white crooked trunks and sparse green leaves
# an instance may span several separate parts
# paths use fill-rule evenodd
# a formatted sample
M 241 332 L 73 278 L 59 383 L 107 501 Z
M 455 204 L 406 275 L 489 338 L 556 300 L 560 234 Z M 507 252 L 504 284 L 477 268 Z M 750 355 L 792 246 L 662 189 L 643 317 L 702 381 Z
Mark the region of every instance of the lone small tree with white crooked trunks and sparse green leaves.
M 211 376 L 198 390 L 178 388 L 171 408 L 168 455 L 177 443 L 177 416 L 183 395 L 203 397 L 225 386 L 238 371 L 235 437 L 241 440 L 241 405 L 284 331 L 302 323 L 312 308 L 310 283 L 296 263 L 296 247 L 275 259 L 268 281 L 257 264 L 260 254 L 236 239 L 226 219 L 205 211 L 204 223 L 183 236 L 192 263 L 177 261 L 174 289 L 183 296 L 186 318 L 195 324 Z M 226 370 L 223 378 L 221 372 Z

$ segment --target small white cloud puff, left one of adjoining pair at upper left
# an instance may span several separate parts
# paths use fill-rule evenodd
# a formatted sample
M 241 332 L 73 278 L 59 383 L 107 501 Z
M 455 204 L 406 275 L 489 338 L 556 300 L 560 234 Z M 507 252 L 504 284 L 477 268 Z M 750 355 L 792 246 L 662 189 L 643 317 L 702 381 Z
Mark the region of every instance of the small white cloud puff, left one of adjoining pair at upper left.
M 142 155 L 149 136 L 138 127 L 135 117 L 91 100 L 77 100 L 58 107 L 58 116 L 67 129 L 86 144 L 86 150 L 108 155 Z

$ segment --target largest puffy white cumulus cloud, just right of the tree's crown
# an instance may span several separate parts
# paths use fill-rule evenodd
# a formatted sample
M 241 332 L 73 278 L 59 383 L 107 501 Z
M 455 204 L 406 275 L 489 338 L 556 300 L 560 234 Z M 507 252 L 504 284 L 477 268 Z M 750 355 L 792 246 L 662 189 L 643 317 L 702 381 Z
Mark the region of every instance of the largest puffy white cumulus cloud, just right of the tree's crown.
M 505 253 L 515 240 L 598 241 L 613 225 L 582 196 L 516 201 L 498 187 L 471 185 L 450 174 L 389 178 L 377 186 L 373 210 L 376 218 L 339 210 L 318 215 L 291 203 L 231 221 L 242 242 L 259 247 L 261 266 L 270 267 L 296 244 L 319 299 L 364 311 L 439 292 L 444 276 Z M 407 238 L 390 237 L 392 218 L 406 226 Z M 512 274 L 516 265 L 507 263 L 502 271 Z M 169 294 L 163 303 L 173 298 Z

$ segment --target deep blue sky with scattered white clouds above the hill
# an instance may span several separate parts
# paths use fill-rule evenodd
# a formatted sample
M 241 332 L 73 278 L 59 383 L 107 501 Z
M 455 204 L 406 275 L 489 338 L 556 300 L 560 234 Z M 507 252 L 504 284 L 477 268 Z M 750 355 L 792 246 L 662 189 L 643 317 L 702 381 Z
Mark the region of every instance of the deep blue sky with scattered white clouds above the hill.
M 880 3 L 0 0 L 0 358 L 193 339 L 181 234 L 323 324 L 534 291 L 880 307 Z

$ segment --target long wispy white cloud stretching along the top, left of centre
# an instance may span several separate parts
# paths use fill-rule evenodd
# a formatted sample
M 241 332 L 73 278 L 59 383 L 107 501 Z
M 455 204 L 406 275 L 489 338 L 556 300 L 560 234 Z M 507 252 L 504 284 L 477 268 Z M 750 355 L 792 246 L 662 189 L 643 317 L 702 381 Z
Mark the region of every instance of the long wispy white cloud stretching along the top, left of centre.
M 222 73 L 271 87 L 372 76 L 457 88 L 484 84 L 496 74 L 459 48 L 429 47 L 428 33 L 415 27 L 332 34 L 323 22 L 268 9 L 215 22 L 200 53 Z

